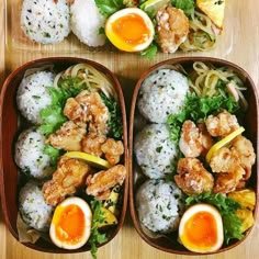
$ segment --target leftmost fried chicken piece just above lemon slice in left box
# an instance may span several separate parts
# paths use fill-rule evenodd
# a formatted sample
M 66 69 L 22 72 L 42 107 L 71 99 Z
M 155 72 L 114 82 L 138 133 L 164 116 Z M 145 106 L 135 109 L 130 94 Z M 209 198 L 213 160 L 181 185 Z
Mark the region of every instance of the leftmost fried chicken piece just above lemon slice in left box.
M 72 121 L 67 121 L 56 133 L 49 135 L 46 143 L 58 149 L 79 151 L 86 133 L 86 127 L 78 126 Z

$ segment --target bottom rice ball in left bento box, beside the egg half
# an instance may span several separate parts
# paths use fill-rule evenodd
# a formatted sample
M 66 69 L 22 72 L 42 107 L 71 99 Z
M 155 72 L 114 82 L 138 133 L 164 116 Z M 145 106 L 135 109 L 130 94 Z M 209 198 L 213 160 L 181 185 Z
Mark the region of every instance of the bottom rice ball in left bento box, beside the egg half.
M 49 229 L 54 207 L 45 203 L 43 192 L 35 182 L 30 181 L 21 189 L 19 211 L 30 227 L 44 232 Z

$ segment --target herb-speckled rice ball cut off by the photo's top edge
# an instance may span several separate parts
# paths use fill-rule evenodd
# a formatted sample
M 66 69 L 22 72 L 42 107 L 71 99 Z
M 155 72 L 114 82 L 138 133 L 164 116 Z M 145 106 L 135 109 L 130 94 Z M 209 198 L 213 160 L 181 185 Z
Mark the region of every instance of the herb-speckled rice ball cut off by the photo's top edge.
M 70 32 L 67 0 L 24 0 L 21 27 L 37 43 L 61 42 Z

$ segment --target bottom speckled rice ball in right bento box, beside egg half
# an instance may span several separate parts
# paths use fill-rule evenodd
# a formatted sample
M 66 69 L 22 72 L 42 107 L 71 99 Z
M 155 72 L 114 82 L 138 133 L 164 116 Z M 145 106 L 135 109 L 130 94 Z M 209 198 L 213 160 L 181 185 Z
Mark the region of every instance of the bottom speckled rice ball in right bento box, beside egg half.
M 184 202 L 176 183 L 161 179 L 147 180 L 136 193 L 139 222 L 155 233 L 171 233 L 180 223 Z

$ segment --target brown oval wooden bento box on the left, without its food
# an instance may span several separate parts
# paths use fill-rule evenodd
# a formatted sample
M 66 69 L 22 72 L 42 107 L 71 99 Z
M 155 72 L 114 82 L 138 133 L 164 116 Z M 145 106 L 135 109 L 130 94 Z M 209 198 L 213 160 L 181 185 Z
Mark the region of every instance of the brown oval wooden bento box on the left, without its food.
M 122 138 L 123 138 L 123 146 L 124 146 L 124 155 L 121 157 L 121 164 L 125 166 L 127 171 L 127 128 L 126 128 L 126 112 L 125 112 L 125 104 L 123 92 L 120 86 L 117 78 L 114 76 L 112 71 L 110 71 L 103 65 L 83 58 L 76 58 L 76 57 L 48 57 L 48 58 L 41 58 L 36 60 L 29 61 L 22 66 L 20 66 L 16 70 L 14 70 L 4 81 L 2 90 L 1 90 L 1 99 L 0 99 L 0 183 L 1 183 L 1 199 L 2 199 L 2 212 L 5 224 L 10 230 L 10 233 L 19 240 L 19 232 L 16 227 L 16 219 L 18 219 L 18 184 L 20 180 L 20 171 L 14 162 L 14 142 L 18 137 L 18 132 L 23 126 L 24 119 L 20 115 L 16 105 L 16 91 L 21 80 L 24 77 L 24 74 L 29 69 L 38 69 L 42 67 L 54 67 L 55 71 L 64 71 L 70 66 L 77 64 L 87 64 L 95 68 L 99 72 L 105 75 L 110 82 L 114 86 L 117 102 L 121 108 L 121 116 L 122 116 Z M 112 238 L 121 229 L 127 206 L 127 195 L 128 195 L 128 177 L 126 174 L 125 180 L 123 182 L 122 188 L 122 196 L 121 196 L 121 212 L 117 216 L 117 224 L 113 225 L 105 229 L 105 234 L 108 236 L 106 241 L 97 247 L 101 247 Z M 44 238 L 40 238 L 35 244 L 32 243 L 22 243 L 23 245 L 40 251 L 45 252 L 55 252 L 55 254 L 71 254 L 71 252 L 83 252 L 89 251 L 91 249 L 89 244 L 83 245 L 82 247 L 74 250 L 67 250 L 63 248 L 56 247 L 49 240 Z

